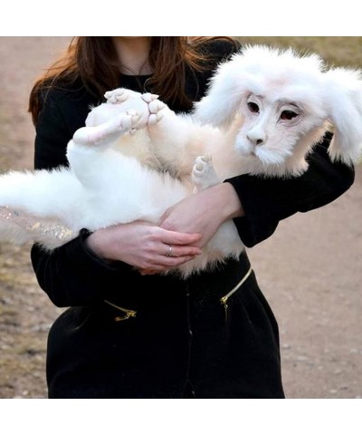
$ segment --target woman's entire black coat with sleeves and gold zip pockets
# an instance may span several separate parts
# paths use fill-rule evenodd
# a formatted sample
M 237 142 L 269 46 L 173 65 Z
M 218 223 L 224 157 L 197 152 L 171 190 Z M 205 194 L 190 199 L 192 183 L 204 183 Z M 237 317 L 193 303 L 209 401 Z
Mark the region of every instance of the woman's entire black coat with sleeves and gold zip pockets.
M 187 71 L 186 92 L 199 100 L 215 65 L 237 49 L 225 41 L 206 43 L 213 60 L 208 71 Z M 143 91 L 147 78 L 120 75 L 119 86 Z M 35 168 L 67 165 L 67 143 L 98 103 L 79 83 L 48 93 L 36 125 Z M 186 111 L 178 102 L 171 109 Z M 247 246 L 271 236 L 282 218 L 327 204 L 349 188 L 353 169 L 329 161 L 327 140 L 298 179 L 227 180 L 245 210 L 234 222 Z M 88 235 L 82 230 L 52 254 L 32 248 L 39 285 L 53 304 L 70 307 L 49 333 L 49 397 L 283 397 L 278 326 L 253 274 L 230 298 L 225 323 L 220 297 L 247 272 L 246 253 L 182 281 L 141 276 L 122 262 L 110 266 L 87 249 Z M 104 300 L 137 315 L 117 321 L 122 312 Z

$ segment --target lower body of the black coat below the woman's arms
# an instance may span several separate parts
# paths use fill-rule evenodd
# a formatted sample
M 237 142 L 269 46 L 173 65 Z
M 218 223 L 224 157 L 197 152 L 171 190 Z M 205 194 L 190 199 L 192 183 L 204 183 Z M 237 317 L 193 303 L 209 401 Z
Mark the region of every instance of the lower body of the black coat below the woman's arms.
M 49 334 L 50 397 L 282 398 L 278 326 L 254 275 L 230 297 L 225 322 L 220 298 L 248 268 L 243 255 L 187 282 L 129 276 L 108 296 L 137 312 L 129 320 L 106 303 L 68 309 Z

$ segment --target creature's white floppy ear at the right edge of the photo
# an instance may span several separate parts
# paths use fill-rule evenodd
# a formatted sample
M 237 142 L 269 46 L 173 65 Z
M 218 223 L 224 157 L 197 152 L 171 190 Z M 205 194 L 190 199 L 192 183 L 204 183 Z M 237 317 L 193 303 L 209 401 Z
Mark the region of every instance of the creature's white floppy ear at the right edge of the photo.
M 362 157 L 362 73 L 334 68 L 325 73 L 328 113 L 334 126 L 332 160 L 357 163 Z

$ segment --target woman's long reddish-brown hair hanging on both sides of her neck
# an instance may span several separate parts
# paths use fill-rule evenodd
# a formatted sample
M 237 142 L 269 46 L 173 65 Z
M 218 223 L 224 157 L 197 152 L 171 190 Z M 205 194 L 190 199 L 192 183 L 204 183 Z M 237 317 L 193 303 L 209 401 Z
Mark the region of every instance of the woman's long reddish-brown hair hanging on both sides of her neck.
M 178 100 L 191 107 L 192 102 L 185 93 L 186 65 L 191 70 L 201 71 L 205 54 L 198 50 L 199 43 L 213 38 L 152 36 L 149 64 L 153 74 L 148 84 L 153 92 L 162 93 L 165 102 Z M 41 92 L 78 80 L 87 92 L 100 99 L 104 92 L 119 87 L 119 61 L 110 36 L 72 38 L 67 52 L 33 86 L 28 107 L 33 122 L 37 121 L 41 110 Z

